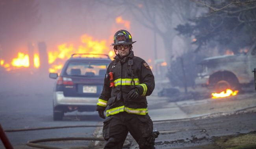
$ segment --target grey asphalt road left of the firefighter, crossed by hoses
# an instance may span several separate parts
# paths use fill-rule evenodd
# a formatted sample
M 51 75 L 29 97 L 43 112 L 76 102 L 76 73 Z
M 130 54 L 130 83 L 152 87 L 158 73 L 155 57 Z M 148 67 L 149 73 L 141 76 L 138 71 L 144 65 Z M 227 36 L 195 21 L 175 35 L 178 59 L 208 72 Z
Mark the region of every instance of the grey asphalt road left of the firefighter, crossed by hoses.
M 0 88 L 0 124 L 4 130 L 28 129 L 36 127 L 58 127 L 74 125 L 101 125 L 102 120 L 96 112 L 67 114 L 63 121 L 52 120 L 52 85 L 41 87 Z M 6 133 L 15 149 L 32 149 L 28 141 L 45 138 L 93 137 L 95 127 L 49 129 Z M 49 143 L 43 143 L 49 145 Z M 86 147 L 90 141 L 50 143 L 58 147 Z M 4 145 L 0 141 L 0 149 Z M 34 148 L 33 148 L 34 149 Z

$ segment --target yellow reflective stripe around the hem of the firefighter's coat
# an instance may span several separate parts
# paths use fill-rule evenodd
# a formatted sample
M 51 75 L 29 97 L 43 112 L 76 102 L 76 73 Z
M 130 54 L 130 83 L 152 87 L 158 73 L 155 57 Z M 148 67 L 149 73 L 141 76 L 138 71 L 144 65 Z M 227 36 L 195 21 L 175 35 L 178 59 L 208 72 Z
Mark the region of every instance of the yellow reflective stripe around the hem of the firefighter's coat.
M 138 114 L 138 115 L 146 115 L 148 113 L 148 108 L 140 108 L 140 109 L 132 109 L 129 107 L 125 107 L 124 105 L 121 107 L 115 107 L 113 109 L 109 109 L 106 111 L 106 115 L 114 115 L 120 112 L 127 112 L 127 113 L 132 113 L 132 114 Z

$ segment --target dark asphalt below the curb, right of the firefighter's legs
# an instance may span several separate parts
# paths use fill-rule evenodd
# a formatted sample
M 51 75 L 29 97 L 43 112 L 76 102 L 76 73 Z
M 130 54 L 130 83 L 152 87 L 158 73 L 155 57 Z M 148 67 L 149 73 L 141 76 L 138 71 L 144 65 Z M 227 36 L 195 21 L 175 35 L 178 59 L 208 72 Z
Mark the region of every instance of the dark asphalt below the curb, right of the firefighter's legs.
M 256 113 L 254 112 L 216 118 L 155 123 L 154 127 L 162 132 L 156 139 L 156 149 L 189 148 L 211 144 L 216 136 L 256 131 L 255 124 Z

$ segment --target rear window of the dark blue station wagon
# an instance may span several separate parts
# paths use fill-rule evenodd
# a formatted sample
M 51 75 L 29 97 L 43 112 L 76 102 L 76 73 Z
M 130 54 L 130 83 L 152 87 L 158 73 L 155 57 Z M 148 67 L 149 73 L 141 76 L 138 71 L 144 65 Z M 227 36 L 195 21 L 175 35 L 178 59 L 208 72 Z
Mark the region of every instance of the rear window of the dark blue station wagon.
M 107 67 L 106 62 L 70 62 L 65 73 L 70 76 L 104 77 Z

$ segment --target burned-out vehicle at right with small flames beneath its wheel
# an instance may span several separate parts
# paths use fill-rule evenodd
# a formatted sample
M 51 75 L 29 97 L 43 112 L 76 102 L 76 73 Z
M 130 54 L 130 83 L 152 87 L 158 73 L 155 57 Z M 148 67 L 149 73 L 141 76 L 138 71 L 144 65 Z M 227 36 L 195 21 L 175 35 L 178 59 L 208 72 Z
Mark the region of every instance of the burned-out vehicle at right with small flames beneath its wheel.
M 203 71 L 198 73 L 195 83 L 216 92 L 254 84 L 252 70 L 256 67 L 256 44 L 247 53 L 205 58 L 200 65 Z

